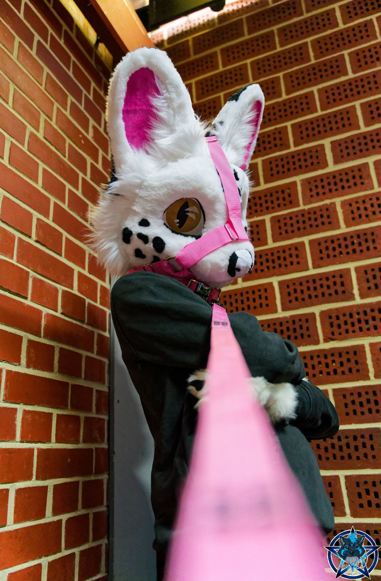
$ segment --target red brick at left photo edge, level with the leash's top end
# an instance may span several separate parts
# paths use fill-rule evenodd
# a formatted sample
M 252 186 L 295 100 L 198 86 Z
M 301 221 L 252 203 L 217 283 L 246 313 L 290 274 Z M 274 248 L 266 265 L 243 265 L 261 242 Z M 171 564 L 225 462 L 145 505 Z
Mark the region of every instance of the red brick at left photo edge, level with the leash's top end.
M 0 294 L 0 322 L 23 329 L 32 335 L 41 334 L 42 311 L 13 297 Z

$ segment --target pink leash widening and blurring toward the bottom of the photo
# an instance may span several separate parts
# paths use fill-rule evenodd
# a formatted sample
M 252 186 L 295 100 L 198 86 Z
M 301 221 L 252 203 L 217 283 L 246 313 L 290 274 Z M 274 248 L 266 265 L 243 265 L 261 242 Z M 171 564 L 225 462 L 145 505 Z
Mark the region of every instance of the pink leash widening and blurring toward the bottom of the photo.
M 211 346 L 166 581 L 327 581 L 324 542 L 267 414 L 225 309 Z

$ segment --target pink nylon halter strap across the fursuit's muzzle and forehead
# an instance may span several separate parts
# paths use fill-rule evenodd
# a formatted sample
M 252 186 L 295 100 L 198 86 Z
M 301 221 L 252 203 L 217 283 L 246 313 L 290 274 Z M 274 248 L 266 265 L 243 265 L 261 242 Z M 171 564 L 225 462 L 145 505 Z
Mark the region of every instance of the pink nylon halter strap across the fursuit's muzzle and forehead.
M 218 175 L 220 175 L 222 188 L 224 188 L 225 200 L 227 203 L 228 220 L 227 223 L 201 238 L 190 242 L 178 253 L 177 263 L 182 268 L 189 268 L 201 260 L 204 256 L 225 246 L 229 242 L 236 240 L 249 240 L 247 232 L 242 224 L 241 203 L 238 193 L 238 186 L 232 168 L 225 156 L 224 150 L 218 143 L 216 137 L 206 137 L 211 159 L 215 165 Z

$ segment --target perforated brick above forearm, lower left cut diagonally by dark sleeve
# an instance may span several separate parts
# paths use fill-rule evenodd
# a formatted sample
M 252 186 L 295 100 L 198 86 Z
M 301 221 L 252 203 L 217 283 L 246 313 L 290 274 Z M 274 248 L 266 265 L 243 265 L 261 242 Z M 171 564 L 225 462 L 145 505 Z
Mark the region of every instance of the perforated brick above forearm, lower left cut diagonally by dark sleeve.
M 302 345 L 317 345 L 319 343 L 315 313 L 261 319 L 260 324 L 263 331 L 277 333 L 283 339 L 291 340 L 298 347 Z

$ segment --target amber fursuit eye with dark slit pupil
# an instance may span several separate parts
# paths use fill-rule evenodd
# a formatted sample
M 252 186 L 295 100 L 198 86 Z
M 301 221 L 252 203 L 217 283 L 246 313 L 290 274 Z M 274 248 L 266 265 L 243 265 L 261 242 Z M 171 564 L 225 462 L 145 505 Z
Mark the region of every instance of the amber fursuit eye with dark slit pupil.
M 178 234 L 199 236 L 204 222 L 204 211 L 195 198 L 180 198 L 164 212 L 164 223 Z

